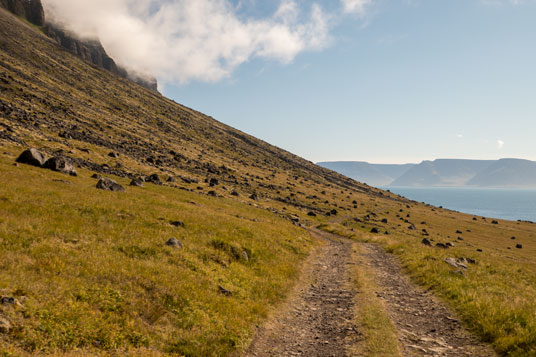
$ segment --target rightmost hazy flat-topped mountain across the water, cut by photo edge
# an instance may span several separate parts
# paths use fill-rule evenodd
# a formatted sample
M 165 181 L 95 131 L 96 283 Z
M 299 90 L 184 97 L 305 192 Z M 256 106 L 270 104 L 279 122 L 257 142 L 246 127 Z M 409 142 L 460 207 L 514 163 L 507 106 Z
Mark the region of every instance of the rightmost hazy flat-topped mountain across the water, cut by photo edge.
M 536 188 L 536 162 L 500 159 L 475 175 L 467 185 Z

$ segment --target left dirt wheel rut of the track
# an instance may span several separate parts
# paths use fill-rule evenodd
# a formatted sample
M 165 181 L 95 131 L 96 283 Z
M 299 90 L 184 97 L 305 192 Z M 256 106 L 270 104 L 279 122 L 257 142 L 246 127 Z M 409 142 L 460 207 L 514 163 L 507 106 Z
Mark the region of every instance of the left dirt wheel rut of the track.
M 312 231 L 326 245 L 311 257 L 297 291 L 262 327 L 246 356 L 346 356 L 359 339 L 354 323 L 353 242 Z

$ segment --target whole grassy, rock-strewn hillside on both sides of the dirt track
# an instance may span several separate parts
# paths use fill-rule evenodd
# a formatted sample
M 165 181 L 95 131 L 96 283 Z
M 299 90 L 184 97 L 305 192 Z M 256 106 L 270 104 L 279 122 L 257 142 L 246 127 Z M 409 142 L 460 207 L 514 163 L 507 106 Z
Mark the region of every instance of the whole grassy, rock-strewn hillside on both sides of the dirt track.
M 71 158 L 79 176 L 13 166 L 28 146 Z M 164 184 L 103 192 L 94 172 Z M 534 225 L 357 183 L 92 67 L 0 10 L 0 295 L 18 301 L 0 305 L 1 352 L 240 351 L 317 244 L 298 225 L 384 244 L 497 350 L 535 353 Z M 444 258 L 462 256 L 477 264 L 453 273 Z

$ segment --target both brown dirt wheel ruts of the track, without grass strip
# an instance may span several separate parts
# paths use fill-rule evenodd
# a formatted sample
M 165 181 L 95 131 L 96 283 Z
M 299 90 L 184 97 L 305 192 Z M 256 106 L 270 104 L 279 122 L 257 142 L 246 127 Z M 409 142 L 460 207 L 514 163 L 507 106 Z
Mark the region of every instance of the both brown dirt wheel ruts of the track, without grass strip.
M 326 244 L 305 264 L 300 283 L 285 305 L 262 326 L 245 356 L 348 356 L 362 340 L 354 318 L 352 246 L 332 234 L 312 233 Z M 405 356 L 495 356 L 465 330 L 430 293 L 415 286 L 396 258 L 362 244 L 362 258 L 376 274 Z M 362 342 L 362 341 L 361 341 Z

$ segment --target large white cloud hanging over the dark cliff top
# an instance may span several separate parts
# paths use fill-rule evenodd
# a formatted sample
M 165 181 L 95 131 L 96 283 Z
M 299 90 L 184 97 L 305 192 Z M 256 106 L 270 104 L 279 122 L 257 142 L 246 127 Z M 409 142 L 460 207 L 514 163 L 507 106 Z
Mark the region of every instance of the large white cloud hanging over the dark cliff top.
M 244 19 L 230 0 L 43 0 L 48 19 L 98 37 L 116 62 L 164 82 L 217 81 L 255 57 L 290 63 L 329 42 L 327 15 L 282 0 L 264 19 Z

